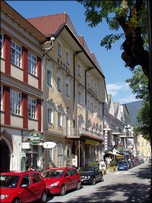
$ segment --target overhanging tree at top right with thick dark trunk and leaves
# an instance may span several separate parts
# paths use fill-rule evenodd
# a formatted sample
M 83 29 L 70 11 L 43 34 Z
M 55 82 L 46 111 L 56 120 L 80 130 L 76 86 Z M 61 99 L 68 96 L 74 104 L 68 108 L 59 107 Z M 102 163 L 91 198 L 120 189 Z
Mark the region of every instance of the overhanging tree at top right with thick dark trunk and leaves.
M 131 70 L 138 65 L 149 78 L 149 47 L 147 31 L 147 0 L 77 0 L 86 11 L 86 22 L 95 27 L 106 20 L 110 30 L 121 33 L 106 35 L 101 46 L 111 49 L 112 44 L 124 37 L 121 58 Z

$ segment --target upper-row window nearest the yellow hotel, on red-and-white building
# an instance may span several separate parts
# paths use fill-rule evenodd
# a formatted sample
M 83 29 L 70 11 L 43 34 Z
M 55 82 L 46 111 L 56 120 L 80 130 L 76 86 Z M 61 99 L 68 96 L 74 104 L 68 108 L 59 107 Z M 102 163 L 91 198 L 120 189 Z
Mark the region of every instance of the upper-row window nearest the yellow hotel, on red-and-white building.
M 28 72 L 37 75 L 37 58 L 31 53 L 28 53 Z

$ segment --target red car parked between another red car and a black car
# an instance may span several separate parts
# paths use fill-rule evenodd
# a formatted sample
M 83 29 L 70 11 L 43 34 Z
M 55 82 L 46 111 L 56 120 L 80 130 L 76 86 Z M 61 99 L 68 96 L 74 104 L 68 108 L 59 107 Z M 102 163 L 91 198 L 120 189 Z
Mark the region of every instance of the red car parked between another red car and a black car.
M 69 190 L 81 188 L 80 173 L 73 167 L 50 168 L 42 176 L 51 194 L 65 195 Z

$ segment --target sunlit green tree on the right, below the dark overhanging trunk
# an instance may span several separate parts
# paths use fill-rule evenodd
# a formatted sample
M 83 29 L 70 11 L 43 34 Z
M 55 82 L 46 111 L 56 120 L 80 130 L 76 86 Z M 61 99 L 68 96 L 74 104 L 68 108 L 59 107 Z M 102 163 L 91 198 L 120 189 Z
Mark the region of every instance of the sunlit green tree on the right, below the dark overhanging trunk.
M 143 137 L 151 141 L 150 137 L 150 100 L 148 91 L 148 78 L 143 73 L 141 67 L 137 67 L 133 71 L 133 76 L 126 80 L 132 89 L 132 92 L 136 94 L 137 99 L 143 100 L 142 108 L 137 114 L 138 126 L 134 126 L 136 134 L 141 133 Z

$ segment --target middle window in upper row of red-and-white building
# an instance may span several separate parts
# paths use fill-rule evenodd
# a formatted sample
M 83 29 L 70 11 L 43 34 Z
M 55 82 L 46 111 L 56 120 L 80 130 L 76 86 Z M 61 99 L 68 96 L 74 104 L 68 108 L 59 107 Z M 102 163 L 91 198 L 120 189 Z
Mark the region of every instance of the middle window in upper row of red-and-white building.
M 22 48 L 15 42 L 11 41 L 11 63 L 21 68 Z

